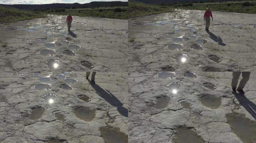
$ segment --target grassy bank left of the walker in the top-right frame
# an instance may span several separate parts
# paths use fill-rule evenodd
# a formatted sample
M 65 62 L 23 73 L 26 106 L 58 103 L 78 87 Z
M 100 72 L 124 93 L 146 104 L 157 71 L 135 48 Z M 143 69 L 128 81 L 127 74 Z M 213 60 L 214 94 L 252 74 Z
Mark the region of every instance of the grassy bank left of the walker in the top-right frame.
M 173 8 L 156 4 L 145 4 L 134 0 L 128 1 L 129 17 L 173 12 Z

